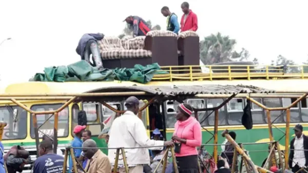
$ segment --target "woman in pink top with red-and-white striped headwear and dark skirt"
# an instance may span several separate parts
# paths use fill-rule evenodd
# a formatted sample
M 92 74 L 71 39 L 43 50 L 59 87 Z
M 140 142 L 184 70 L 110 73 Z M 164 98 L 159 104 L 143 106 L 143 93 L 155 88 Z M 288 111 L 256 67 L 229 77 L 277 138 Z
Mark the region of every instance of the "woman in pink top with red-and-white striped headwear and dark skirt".
M 182 103 L 176 113 L 175 132 L 172 140 L 176 143 L 175 152 L 180 173 L 198 173 L 198 151 L 201 146 L 201 125 L 191 117 L 192 107 Z

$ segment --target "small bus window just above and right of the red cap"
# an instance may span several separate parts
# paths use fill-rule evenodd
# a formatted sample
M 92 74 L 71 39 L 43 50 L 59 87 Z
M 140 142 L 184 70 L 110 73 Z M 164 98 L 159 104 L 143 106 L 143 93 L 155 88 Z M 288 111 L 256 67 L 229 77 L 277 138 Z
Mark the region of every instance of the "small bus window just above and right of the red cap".
M 84 103 L 83 110 L 87 114 L 87 123 L 97 123 L 99 118 L 99 104 L 98 103 Z

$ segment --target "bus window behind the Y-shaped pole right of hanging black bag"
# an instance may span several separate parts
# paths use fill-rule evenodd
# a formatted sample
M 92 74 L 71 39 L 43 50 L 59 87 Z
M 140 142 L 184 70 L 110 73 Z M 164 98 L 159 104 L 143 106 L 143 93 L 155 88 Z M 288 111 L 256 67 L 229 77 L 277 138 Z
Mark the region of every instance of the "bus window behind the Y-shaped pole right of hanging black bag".
M 263 98 L 263 103 L 266 107 L 282 107 L 280 99 L 278 98 Z M 281 113 L 282 112 L 280 110 L 272 110 L 271 111 L 272 122 L 276 119 L 274 123 L 282 123 L 282 116 L 280 116 Z M 278 116 L 280 117 L 277 118 Z M 266 111 L 265 111 L 265 121 L 267 123 Z

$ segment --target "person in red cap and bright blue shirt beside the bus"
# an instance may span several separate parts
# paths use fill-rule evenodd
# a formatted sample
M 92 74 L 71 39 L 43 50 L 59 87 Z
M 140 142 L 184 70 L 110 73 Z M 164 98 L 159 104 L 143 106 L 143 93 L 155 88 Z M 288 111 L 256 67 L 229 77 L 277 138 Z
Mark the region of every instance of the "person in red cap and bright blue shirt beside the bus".
M 71 146 L 74 147 L 80 147 L 80 148 L 74 148 L 74 156 L 76 159 L 79 159 L 79 157 L 81 156 L 81 152 L 82 152 L 82 140 L 81 140 L 81 136 L 82 136 L 82 131 L 86 128 L 86 126 L 81 126 L 81 125 L 76 125 L 73 132 L 75 134 L 75 137 L 73 139 L 73 141 L 71 142 Z M 68 172 L 71 173 L 72 172 L 72 168 L 73 168 L 73 161 L 71 156 L 69 157 L 69 169 Z

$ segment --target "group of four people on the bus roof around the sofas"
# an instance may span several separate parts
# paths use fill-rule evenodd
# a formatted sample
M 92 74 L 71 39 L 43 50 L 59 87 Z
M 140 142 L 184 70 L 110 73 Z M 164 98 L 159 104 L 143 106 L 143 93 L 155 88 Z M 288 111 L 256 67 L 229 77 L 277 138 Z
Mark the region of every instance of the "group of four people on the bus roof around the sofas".
M 175 13 L 170 12 L 169 8 L 164 6 L 161 9 L 161 13 L 167 17 L 167 31 L 178 34 L 184 31 L 197 31 L 198 29 L 198 18 L 197 15 L 189 9 L 187 2 L 181 5 L 183 15 L 179 24 L 178 16 Z M 145 36 L 150 30 L 149 24 L 143 20 L 142 17 L 137 15 L 130 15 L 125 18 L 123 22 L 126 22 L 129 28 L 133 30 L 133 37 Z M 76 53 L 81 56 L 81 60 L 90 62 L 90 55 L 92 54 L 93 63 L 92 66 L 102 70 L 103 62 L 101 60 L 98 40 L 102 40 L 104 34 L 102 33 L 86 33 L 79 40 L 76 48 Z

